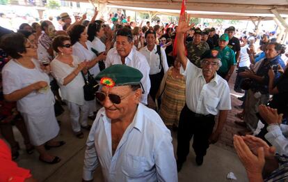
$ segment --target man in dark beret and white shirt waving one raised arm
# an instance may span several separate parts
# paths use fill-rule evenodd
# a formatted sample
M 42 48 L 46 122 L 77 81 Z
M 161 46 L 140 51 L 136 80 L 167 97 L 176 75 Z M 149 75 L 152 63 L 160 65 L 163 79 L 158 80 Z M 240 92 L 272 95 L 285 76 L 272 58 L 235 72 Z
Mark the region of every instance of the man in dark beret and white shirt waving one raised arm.
M 193 149 L 197 165 L 202 165 L 209 143 L 217 142 L 221 135 L 228 110 L 231 109 L 230 89 L 227 82 L 217 75 L 221 60 L 217 50 L 209 50 L 202 55 L 201 67 L 198 68 L 185 56 L 184 34 L 193 25 L 189 25 L 187 15 L 180 16 L 177 28 L 177 56 L 184 68 L 186 78 L 186 105 L 179 117 L 177 170 L 182 169 L 183 162 L 189 154 L 189 144 L 193 137 Z M 218 126 L 213 132 L 215 116 Z

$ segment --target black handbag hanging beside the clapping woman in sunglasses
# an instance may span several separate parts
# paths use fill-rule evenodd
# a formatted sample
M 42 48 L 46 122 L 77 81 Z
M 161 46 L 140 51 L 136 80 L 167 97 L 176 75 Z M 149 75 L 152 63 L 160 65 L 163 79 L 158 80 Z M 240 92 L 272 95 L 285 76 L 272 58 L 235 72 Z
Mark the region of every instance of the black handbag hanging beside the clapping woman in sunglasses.
M 85 85 L 83 86 L 84 90 L 84 100 L 90 101 L 95 99 L 95 92 L 99 88 L 99 84 L 94 79 L 93 75 L 90 74 L 89 70 L 87 71 L 87 79 L 84 75 L 84 73 L 81 71 L 81 74 L 83 76 Z

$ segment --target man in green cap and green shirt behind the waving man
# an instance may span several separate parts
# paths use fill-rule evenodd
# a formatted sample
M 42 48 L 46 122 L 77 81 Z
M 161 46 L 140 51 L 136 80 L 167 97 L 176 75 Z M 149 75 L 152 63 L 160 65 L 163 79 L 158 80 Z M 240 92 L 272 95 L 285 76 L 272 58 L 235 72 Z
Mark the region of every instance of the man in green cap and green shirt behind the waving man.
M 230 49 L 230 47 L 227 46 L 228 43 L 229 36 L 227 33 L 223 33 L 223 35 L 218 40 L 218 47 L 215 47 L 215 50 L 219 51 L 218 58 L 221 59 L 222 62 L 222 66 L 217 71 L 217 73 L 226 79 L 227 82 L 229 82 L 229 79 L 237 64 L 235 53 Z

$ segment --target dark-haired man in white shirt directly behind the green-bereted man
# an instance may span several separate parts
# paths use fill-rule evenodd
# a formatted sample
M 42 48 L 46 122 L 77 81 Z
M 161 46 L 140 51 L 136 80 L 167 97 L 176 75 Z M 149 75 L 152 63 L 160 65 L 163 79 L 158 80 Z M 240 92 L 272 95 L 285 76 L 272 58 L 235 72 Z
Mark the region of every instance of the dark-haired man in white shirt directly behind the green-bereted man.
M 123 28 L 116 33 L 116 47 L 113 47 L 106 56 L 105 66 L 108 68 L 114 64 L 125 64 L 141 71 L 143 78 L 141 84 L 143 86 L 143 95 L 141 103 L 147 105 L 148 93 L 150 92 L 150 66 L 143 54 L 135 50 L 131 30 Z

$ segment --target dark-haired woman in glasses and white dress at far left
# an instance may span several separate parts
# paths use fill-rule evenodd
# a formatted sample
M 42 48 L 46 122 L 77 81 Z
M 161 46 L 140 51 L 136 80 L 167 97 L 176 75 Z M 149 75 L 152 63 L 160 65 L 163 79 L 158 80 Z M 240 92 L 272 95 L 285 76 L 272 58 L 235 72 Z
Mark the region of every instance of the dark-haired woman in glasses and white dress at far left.
M 13 58 L 2 70 L 4 98 L 17 101 L 17 109 L 24 118 L 31 144 L 40 153 L 39 160 L 49 164 L 60 162 L 60 158 L 45 151 L 45 148 L 62 146 L 65 142 L 54 141 L 59 132 L 54 114 L 54 96 L 48 85 L 48 75 L 35 60 L 36 47 L 21 33 L 4 36 L 0 46 Z

